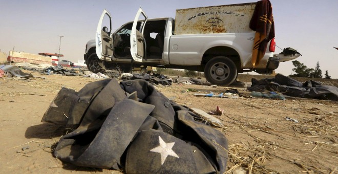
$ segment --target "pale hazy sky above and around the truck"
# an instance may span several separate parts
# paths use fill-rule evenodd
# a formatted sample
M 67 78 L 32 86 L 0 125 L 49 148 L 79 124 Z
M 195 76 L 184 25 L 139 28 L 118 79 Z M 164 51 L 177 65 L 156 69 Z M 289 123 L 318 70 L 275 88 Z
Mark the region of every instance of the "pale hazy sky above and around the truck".
M 95 37 L 103 9 L 112 14 L 113 31 L 134 20 L 138 8 L 149 18 L 173 17 L 176 9 L 250 3 L 250 0 L 124 0 L 124 1 L 4 1 L 0 0 L 0 50 L 26 53 L 58 53 L 62 59 L 83 60 L 88 40 Z M 291 47 L 303 56 L 297 58 L 307 68 L 319 61 L 322 74 L 328 70 L 338 78 L 338 1 L 270 0 L 280 48 Z M 282 50 L 276 48 L 276 53 Z M 277 73 L 294 74 L 291 61 L 281 62 Z

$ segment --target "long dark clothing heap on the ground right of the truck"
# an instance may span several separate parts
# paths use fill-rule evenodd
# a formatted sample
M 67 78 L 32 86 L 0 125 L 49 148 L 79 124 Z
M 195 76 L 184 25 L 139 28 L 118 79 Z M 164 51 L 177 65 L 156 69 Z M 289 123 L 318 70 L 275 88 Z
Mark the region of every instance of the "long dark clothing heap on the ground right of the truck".
M 307 80 L 305 83 L 277 74 L 274 78 L 251 79 L 249 91 L 278 91 L 292 97 L 313 98 L 321 100 L 338 100 L 336 86 L 322 85 L 320 82 Z

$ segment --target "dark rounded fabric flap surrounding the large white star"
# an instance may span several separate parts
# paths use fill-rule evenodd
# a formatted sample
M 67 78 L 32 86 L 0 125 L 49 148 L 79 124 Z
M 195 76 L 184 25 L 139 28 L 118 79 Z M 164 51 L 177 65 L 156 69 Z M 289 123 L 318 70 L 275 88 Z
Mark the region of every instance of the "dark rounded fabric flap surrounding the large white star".
M 169 149 L 171 155 L 168 155 L 165 160 L 159 153 L 151 151 L 163 145 L 163 142 L 166 146 L 173 144 Z M 196 146 L 154 129 L 143 130 L 131 144 L 126 156 L 125 170 L 126 173 L 216 172 Z

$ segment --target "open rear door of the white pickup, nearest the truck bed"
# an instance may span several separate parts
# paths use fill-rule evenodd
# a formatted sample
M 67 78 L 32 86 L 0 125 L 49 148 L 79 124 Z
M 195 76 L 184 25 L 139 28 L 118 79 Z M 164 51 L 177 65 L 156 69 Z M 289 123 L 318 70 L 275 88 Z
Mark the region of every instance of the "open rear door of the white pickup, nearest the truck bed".
M 144 19 L 139 19 L 140 15 L 143 15 Z M 143 37 L 143 29 L 147 20 L 146 14 L 141 8 L 138 9 L 134 19 L 131 35 L 130 35 L 130 52 L 134 61 L 142 62 L 142 58 L 145 56 L 145 39 Z M 138 21 L 142 21 L 141 27 L 137 30 Z

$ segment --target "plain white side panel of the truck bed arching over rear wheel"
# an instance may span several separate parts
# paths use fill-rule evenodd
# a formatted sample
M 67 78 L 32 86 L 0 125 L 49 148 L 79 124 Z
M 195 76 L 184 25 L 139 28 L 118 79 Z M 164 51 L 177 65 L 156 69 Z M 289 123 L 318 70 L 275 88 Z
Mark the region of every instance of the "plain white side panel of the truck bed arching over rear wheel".
M 224 46 L 235 49 L 241 58 L 241 68 L 252 68 L 251 56 L 255 33 L 223 33 L 223 34 L 184 34 L 172 35 L 170 39 L 170 64 L 188 66 L 200 65 L 203 54 L 209 48 Z M 191 44 L 194 43 L 194 44 Z M 272 57 L 266 52 L 262 64 Z

